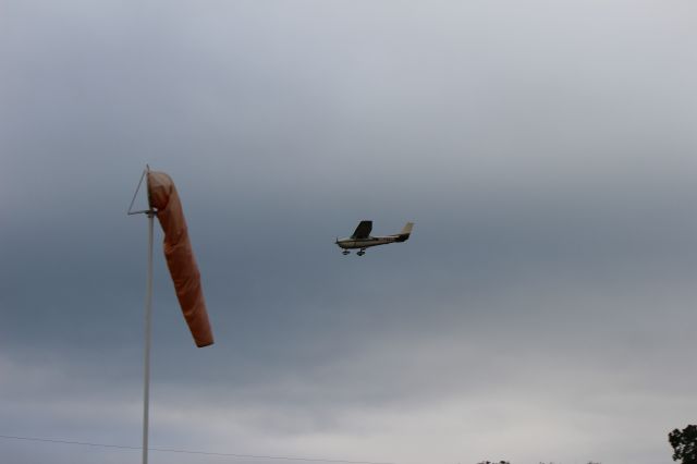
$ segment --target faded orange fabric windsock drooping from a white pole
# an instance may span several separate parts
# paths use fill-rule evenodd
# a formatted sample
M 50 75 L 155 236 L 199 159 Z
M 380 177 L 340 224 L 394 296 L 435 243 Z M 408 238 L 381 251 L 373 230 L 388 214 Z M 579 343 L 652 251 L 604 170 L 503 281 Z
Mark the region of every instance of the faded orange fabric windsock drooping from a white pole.
M 213 344 L 200 273 L 188 241 L 182 203 L 172 179 L 163 172 L 148 171 L 148 202 L 157 209 L 164 232 L 164 258 L 174 281 L 174 290 L 196 346 Z

